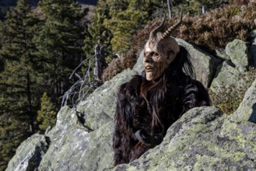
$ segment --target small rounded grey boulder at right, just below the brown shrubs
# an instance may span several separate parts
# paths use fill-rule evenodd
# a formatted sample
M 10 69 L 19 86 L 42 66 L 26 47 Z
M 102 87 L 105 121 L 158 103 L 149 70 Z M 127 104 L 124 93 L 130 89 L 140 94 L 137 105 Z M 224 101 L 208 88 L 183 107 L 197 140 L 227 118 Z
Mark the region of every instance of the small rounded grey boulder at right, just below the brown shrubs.
M 230 56 L 231 61 L 237 68 L 247 68 L 251 60 L 248 48 L 243 40 L 235 39 L 226 44 L 226 54 Z

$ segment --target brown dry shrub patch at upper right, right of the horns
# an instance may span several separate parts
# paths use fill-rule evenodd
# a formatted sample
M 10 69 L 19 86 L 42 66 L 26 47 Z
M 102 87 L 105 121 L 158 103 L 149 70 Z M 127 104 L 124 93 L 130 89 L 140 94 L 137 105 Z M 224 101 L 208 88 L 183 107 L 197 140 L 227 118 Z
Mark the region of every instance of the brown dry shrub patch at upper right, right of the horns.
M 184 17 L 178 37 L 197 44 L 208 51 L 225 47 L 233 39 L 247 40 L 248 33 L 255 27 L 256 2 L 243 8 L 240 5 L 225 5 L 204 16 Z

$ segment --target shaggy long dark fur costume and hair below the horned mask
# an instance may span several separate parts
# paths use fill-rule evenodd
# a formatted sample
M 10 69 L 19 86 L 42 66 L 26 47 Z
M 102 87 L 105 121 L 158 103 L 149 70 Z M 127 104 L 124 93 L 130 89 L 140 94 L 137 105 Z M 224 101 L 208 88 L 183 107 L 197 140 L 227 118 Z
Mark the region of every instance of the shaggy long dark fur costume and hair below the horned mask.
M 194 69 L 188 51 L 181 47 L 175 60 L 163 75 L 147 81 L 145 72 L 124 83 L 117 95 L 113 135 L 114 165 L 132 162 L 149 148 L 153 137 L 160 141 L 168 127 L 183 113 L 195 106 L 209 106 L 209 94 L 194 79 Z M 152 143 L 142 143 L 135 132 L 142 130 L 152 137 Z

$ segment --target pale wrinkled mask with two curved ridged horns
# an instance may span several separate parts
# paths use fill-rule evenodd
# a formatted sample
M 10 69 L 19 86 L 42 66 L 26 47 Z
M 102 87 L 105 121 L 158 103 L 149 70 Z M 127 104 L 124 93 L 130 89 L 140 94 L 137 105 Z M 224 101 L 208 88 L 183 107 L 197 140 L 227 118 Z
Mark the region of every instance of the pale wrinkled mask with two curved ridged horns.
M 170 33 L 181 24 L 181 19 L 182 12 L 178 23 L 171 26 L 166 32 L 161 32 L 165 19 L 163 19 L 163 23 L 160 26 L 151 31 L 149 40 L 144 47 L 143 58 L 146 79 L 148 81 L 159 78 L 179 53 L 180 47 L 177 41 L 170 37 Z

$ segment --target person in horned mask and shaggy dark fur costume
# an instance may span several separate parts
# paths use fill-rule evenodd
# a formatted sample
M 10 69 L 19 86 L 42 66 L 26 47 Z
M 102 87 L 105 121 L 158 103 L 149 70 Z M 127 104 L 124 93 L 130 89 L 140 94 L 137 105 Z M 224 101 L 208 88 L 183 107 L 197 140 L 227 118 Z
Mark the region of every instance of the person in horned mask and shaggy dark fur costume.
M 205 87 L 191 79 L 194 70 L 188 51 L 170 37 L 180 23 L 181 19 L 161 33 L 163 19 L 144 47 L 145 71 L 120 87 L 114 117 L 114 165 L 138 159 L 160 145 L 167 129 L 183 113 L 210 105 Z

